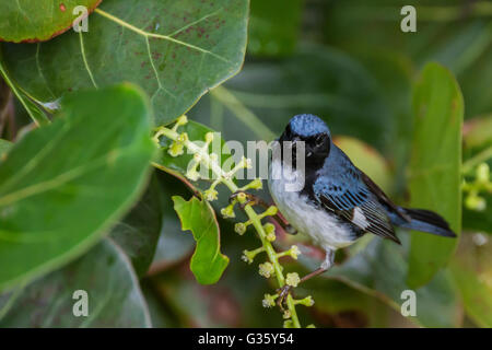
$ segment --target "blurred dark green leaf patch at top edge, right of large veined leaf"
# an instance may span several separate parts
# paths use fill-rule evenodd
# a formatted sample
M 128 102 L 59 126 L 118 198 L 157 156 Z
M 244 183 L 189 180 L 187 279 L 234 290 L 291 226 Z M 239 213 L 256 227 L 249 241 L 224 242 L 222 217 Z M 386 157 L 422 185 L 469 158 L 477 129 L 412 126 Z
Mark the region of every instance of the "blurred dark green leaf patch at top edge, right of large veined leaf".
M 290 55 L 300 36 L 303 0 L 251 0 L 248 54 Z

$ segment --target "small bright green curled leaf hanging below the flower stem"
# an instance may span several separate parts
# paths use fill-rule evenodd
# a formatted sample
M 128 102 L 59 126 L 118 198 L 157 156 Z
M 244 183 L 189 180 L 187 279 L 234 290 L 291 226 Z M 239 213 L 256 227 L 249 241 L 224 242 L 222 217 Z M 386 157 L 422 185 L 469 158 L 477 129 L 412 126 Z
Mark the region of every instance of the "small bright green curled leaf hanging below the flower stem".
M 215 212 L 206 200 L 192 197 L 186 201 L 173 196 L 174 210 L 181 221 L 183 230 L 190 230 L 197 247 L 191 257 L 190 269 L 198 282 L 215 283 L 229 264 L 229 258 L 220 253 L 220 232 Z

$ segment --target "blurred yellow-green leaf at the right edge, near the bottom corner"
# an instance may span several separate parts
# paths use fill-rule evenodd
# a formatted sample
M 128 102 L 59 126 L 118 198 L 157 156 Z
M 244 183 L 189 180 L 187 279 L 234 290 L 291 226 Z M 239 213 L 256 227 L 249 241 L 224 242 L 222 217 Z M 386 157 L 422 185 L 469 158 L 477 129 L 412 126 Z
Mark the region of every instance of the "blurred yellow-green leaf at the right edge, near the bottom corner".
M 461 293 L 467 314 L 480 327 L 492 327 L 492 243 L 483 237 L 464 235 L 450 262 L 453 277 Z M 478 236 L 479 237 L 479 236 Z M 478 242 L 479 244 L 477 244 Z

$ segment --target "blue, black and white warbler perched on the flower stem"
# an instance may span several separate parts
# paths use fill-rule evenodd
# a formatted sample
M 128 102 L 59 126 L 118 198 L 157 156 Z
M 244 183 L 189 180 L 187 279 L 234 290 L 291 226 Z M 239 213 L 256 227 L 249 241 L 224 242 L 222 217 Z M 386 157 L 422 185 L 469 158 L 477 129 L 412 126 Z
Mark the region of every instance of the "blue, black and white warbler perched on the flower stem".
M 278 141 L 280 152 L 270 164 L 270 194 L 289 223 L 326 250 L 320 268 L 301 281 L 329 269 L 336 249 L 366 233 L 396 243 L 400 241 L 394 226 L 456 237 L 441 215 L 395 205 L 332 143 L 328 126 L 317 116 L 294 116 Z M 303 162 L 298 159 L 301 142 Z M 302 186 L 292 190 L 296 182 Z

